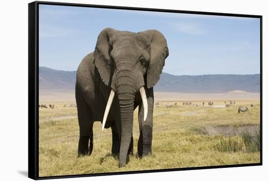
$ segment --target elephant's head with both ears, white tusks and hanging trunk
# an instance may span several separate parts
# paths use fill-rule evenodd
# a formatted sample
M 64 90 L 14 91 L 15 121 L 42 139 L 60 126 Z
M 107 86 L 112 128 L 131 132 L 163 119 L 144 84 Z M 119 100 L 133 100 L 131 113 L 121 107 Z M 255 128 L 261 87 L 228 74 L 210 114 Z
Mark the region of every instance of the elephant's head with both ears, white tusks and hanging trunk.
M 121 154 L 127 154 L 132 136 L 135 95 L 140 92 L 145 121 L 148 105 L 144 86 L 151 88 L 157 83 L 167 56 L 166 40 L 157 30 L 132 33 L 106 28 L 98 36 L 94 63 L 103 82 L 111 88 L 103 128 L 116 94 L 121 116 L 120 161 Z

